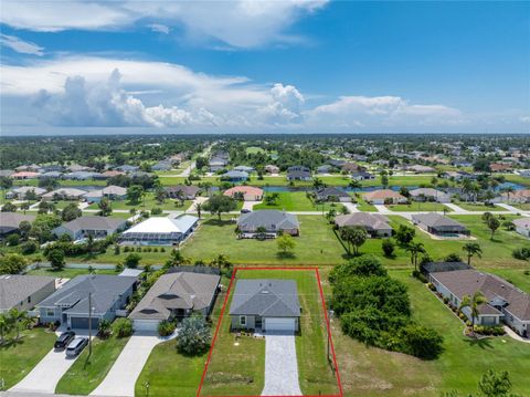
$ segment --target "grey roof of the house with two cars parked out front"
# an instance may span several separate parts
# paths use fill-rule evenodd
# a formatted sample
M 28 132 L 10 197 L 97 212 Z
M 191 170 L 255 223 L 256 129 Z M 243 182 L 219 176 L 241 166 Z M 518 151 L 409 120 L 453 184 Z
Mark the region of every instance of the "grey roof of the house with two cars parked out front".
M 136 278 L 110 274 L 84 274 L 70 280 L 38 306 L 68 307 L 70 313 L 88 313 L 88 293 L 92 293 L 94 314 L 108 312 L 115 302 L 136 283 Z

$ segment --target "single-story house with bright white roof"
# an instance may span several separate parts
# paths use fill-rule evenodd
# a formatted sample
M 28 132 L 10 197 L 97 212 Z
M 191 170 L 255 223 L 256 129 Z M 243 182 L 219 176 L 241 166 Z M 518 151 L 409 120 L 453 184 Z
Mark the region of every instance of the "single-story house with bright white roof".
M 120 241 L 138 245 L 179 244 L 191 236 L 198 223 L 199 218 L 191 215 L 176 218 L 151 217 L 123 232 Z

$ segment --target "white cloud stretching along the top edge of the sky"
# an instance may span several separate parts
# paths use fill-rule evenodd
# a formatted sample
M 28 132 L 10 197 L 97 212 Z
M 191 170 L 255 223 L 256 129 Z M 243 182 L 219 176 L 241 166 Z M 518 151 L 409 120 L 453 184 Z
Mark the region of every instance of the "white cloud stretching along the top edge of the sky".
M 233 48 L 253 48 L 271 42 L 297 41 L 298 38 L 289 35 L 286 30 L 303 15 L 324 7 L 327 1 L 43 0 L 35 10 L 33 1 L 3 0 L 0 20 L 17 29 L 44 32 L 68 29 L 119 30 L 146 23 L 151 29 L 167 33 L 171 27 L 179 25 L 191 40 L 213 39 Z

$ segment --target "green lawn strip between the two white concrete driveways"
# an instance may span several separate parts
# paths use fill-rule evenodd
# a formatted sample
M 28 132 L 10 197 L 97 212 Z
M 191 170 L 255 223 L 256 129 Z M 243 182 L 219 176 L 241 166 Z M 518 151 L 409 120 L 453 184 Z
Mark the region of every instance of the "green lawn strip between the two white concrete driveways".
M 88 358 L 88 346 L 70 367 L 59 382 L 55 393 L 86 396 L 91 394 L 105 378 L 121 349 L 129 341 L 128 337 L 109 337 L 108 339 L 94 338 L 92 357 Z

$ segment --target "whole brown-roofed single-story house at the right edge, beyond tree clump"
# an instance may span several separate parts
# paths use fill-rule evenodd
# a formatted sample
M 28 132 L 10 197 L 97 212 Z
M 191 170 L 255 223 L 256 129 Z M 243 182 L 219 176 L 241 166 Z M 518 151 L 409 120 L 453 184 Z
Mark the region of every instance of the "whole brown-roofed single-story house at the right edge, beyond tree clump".
M 530 295 L 517 289 L 504 279 L 475 269 L 433 272 L 428 281 L 444 297 L 459 307 L 464 296 L 473 296 L 480 291 L 487 303 L 478 307 L 477 325 L 509 325 L 521 336 L 528 336 L 530 330 Z M 463 309 L 470 318 L 469 307 Z

